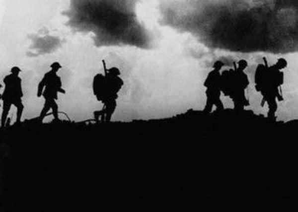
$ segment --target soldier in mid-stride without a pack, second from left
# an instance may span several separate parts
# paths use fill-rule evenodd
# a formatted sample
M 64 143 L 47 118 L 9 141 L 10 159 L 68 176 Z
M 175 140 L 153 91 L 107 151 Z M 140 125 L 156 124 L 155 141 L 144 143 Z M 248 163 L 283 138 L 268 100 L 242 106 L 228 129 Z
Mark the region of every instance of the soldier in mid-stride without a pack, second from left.
M 41 82 L 38 85 L 37 96 L 40 97 L 42 94 L 45 98 L 45 105 L 40 113 L 40 121 L 44 119 L 47 112 L 52 108 L 55 120 L 58 118 L 58 105 L 55 99 L 58 99 L 57 93 L 65 93 L 65 90 L 61 88 L 62 83 L 60 77 L 57 75 L 57 71 L 62 68 L 58 62 L 51 65 L 52 70 L 47 72 Z M 45 87 L 44 91 L 43 88 Z

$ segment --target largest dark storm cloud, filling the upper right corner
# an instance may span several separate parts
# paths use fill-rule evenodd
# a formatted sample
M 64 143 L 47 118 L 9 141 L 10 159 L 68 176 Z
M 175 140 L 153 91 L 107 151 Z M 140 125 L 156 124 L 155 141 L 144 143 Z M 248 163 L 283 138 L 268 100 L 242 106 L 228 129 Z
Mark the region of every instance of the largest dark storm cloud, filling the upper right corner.
M 161 0 L 161 23 L 230 51 L 298 50 L 298 0 Z

